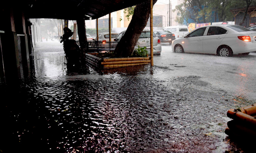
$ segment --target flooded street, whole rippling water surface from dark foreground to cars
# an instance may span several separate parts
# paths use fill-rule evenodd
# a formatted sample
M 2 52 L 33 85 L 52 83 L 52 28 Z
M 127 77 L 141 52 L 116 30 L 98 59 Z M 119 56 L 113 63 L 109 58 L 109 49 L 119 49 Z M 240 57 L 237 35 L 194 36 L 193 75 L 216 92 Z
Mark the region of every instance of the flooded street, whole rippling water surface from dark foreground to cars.
M 229 108 L 256 103 L 256 53 L 173 53 L 150 64 L 67 69 L 63 46 L 34 48 L 32 75 L 1 89 L 10 152 L 246 152 L 224 133 Z

